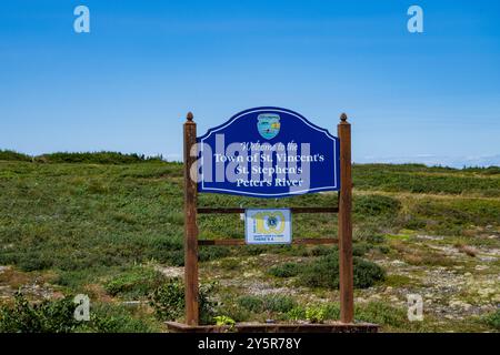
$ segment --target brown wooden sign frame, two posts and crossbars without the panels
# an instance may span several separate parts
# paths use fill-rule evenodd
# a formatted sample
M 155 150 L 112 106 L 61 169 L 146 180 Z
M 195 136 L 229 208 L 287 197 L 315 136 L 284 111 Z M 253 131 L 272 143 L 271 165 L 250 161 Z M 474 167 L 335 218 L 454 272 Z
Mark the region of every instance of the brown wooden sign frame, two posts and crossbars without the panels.
M 338 206 L 291 206 L 292 213 L 338 213 L 338 237 L 294 239 L 292 244 L 338 244 L 339 246 L 339 286 L 340 322 L 354 327 L 353 304 L 353 262 L 352 262 L 352 163 L 351 124 L 347 114 L 340 115 L 337 125 L 340 152 L 340 190 Z M 198 149 L 197 124 L 193 114 L 188 112 L 183 124 L 183 172 L 184 172 L 184 296 L 186 324 L 199 327 L 199 245 L 244 245 L 244 240 L 199 240 L 198 213 L 242 213 L 242 207 L 199 207 L 198 206 Z

